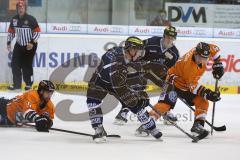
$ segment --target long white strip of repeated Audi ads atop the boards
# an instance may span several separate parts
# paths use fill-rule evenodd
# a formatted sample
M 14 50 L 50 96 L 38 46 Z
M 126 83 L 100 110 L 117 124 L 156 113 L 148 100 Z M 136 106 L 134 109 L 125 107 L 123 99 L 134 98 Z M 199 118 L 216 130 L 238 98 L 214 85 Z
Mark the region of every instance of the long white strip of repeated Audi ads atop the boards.
M 7 32 L 9 22 L 0 22 L 0 32 Z M 162 36 L 163 26 L 124 26 L 95 24 L 39 23 L 41 33 L 86 34 L 86 35 L 134 35 Z M 178 37 L 236 38 L 240 39 L 240 29 L 181 27 L 176 25 Z

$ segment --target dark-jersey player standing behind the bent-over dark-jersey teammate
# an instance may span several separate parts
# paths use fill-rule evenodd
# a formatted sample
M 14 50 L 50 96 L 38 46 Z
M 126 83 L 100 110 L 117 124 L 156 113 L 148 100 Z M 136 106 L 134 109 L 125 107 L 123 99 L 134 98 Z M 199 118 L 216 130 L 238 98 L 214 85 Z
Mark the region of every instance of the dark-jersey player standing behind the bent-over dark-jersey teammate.
M 150 62 L 150 63 L 158 63 L 161 65 L 165 65 L 167 69 L 171 68 L 179 58 L 179 52 L 176 46 L 174 45 L 174 41 L 177 37 L 176 28 L 173 26 L 168 26 L 164 29 L 163 37 L 154 36 L 144 40 L 145 46 L 145 56 L 142 57 L 139 62 Z M 152 70 L 157 69 L 152 65 Z M 165 79 L 163 77 L 162 79 Z M 128 76 L 128 85 L 132 86 L 135 90 L 144 90 L 147 85 L 147 79 L 141 78 L 138 74 L 136 76 Z M 114 124 L 116 125 L 124 125 L 127 122 L 127 113 L 129 109 L 127 106 L 122 106 L 122 109 L 117 114 L 114 120 Z M 150 113 L 151 114 L 151 113 Z M 177 118 L 169 111 L 167 114 L 172 117 L 174 121 L 177 121 Z

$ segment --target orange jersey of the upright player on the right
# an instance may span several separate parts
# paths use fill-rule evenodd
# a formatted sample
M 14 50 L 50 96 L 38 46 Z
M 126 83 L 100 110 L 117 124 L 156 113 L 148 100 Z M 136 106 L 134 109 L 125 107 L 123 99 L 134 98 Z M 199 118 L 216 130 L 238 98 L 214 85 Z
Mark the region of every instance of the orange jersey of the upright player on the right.
M 198 80 L 206 71 L 206 66 L 199 67 L 193 60 L 195 48 L 180 58 L 177 63 L 168 70 L 168 77 L 174 77 L 174 85 L 183 90 L 197 94 L 201 84 Z M 216 60 L 220 58 L 219 48 L 210 44 L 210 59 Z

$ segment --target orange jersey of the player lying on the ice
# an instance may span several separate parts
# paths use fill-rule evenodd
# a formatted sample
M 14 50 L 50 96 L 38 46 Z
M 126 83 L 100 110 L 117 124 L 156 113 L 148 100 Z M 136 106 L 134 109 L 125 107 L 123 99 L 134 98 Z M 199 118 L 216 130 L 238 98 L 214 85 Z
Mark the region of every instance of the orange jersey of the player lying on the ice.
M 51 119 L 54 118 L 54 105 L 51 100 L 48 101 L 46 106 L 43 109 L 39 108 L 41 101 L 40 97 L 36 90 L 30 90 L 25 92 L 23 95 L 16 96 L 8 105 L 7 105 L 7 116 L 8 119 L 16 124 L 16 115 L 22 114 L 23 117 L 27 112 L 34 110 L 39 115 L 47 112 Z M 25 118 L 25 117 L 24 117 Z

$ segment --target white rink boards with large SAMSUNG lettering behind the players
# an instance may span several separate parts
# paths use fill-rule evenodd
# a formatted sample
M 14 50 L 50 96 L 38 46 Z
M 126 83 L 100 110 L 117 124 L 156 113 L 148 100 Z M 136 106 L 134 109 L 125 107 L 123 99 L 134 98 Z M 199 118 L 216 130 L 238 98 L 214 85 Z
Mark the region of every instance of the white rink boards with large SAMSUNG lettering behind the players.
M 6 50 L 6 33 L 0 34 L 0 90 L 5 90 L 12 82 L 11 53 Z M 34 81 L 51 79 L 61 91 L 85 91 L 87 83 L 97 67 L 101 56 L 113 46 L 122 45 L 126 36 L 42 34 L 37 54 L 34 58 Z M 141 36 L 142 39 L 148 38 Z M 223 93 L 239 93 L 240 86 L 240 46 L 239 39 L 189 38 L 179 37 L 175 44 L 180 55 L 184 55 L 200 41 L 214 43 L 221 49 L 225 75 L 220 81 Z M 12 43 L 13 44 L 13 43 Z M 13 45 L 12 45 L 13 46 Z M 201 78 L 201 83 L 213 87 L 215 80 L 211 74 L 211 64 Z M 149 91 L 158 91 L 150 84 Z

